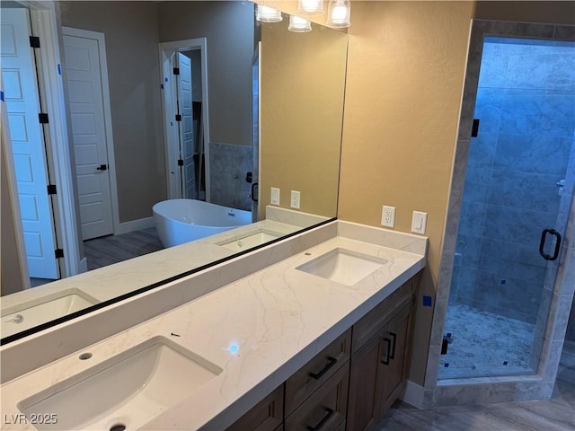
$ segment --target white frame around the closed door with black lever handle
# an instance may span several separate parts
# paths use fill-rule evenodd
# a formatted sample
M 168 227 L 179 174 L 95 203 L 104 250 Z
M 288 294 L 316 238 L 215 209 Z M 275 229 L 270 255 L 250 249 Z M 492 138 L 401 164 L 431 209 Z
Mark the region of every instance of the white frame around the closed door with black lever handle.
M 98 55 L 100 57 L 100 75 L 102 78 L 102 107 L 104 111 L 104 134 L 106 136 L 106 152 L 108 153 L 108 172 L 110 176 L 111 216 L 114 234 L 120 232 L 118 183 L 116 182 L 116 161 L 114 158 L 114 139 L 111 129 L 111 102 L 110 84 L 108 82 L 108 62 L 106 60 L 106 41 L 104 33 L 73 29 L 62 26 L 62 34 L 76 38 L 93 39 L 98 41 Z

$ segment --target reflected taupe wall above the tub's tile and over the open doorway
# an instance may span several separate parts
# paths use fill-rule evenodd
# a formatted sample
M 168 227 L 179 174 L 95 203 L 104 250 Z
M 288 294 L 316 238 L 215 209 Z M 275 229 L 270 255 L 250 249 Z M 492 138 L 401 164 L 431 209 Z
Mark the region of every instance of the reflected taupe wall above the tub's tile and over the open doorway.
M 253 4 L 162 2 L 160 41 L 206 37 L 210 141 L 252 145 Z

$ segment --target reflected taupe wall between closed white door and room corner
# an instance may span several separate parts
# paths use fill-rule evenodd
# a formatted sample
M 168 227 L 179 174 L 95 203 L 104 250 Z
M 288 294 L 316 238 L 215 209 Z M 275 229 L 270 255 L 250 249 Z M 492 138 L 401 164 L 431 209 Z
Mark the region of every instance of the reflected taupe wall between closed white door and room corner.
M 119 221 L 152 216 L 165 198 L 155 2 L 61 2 L 61 23 L 104 33 Z

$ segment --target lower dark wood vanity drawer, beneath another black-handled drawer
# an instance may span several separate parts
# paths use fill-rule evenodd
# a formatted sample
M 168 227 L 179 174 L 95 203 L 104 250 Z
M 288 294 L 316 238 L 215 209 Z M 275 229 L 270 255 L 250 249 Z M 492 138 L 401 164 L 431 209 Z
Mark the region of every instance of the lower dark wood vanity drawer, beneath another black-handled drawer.
M 349 361 L 286 418 L 286 431 L 335 431 L 345 422 Z

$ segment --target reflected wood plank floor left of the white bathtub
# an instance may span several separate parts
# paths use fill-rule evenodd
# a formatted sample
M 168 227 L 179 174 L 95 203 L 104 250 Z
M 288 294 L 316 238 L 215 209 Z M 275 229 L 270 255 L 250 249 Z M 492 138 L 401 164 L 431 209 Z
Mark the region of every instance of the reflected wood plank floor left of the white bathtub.
M 155 232 L 155 227 L 84 241 L 84 255 L 88 259 L 88 270 L 106 267 L 112 263 L 137 258 L 162 249 L 164 247 Z

